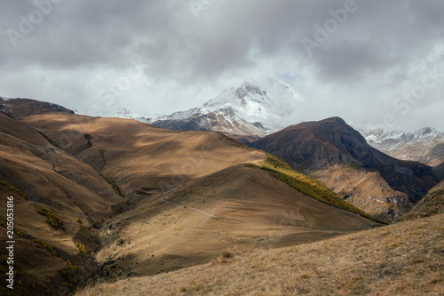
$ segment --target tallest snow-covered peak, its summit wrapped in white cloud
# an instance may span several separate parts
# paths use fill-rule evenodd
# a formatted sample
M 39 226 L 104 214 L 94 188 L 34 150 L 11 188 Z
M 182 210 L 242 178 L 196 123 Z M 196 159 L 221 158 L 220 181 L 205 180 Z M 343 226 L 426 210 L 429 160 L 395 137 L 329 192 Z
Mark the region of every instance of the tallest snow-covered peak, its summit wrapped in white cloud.
M 291 122 L 297 103 L 304 100 L 289 84 L 266 78 L 244 82 L 207 101 L 200 108 L 170 116 L 146 117 L 121 114 L 179 131 L 216 131 L 228 135 L 260 138 Z

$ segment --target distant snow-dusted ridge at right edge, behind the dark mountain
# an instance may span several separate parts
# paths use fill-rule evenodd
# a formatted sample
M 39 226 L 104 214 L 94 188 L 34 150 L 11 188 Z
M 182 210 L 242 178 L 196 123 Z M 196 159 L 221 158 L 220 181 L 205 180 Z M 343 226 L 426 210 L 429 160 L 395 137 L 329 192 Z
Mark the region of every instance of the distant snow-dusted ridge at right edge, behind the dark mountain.
M 416 132 L 360 130 L 374 148 L 404 160 L 437 165 L 444 162 L 444 132 L 425 127 Z

